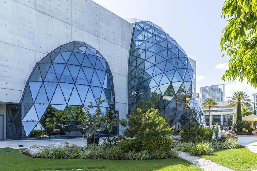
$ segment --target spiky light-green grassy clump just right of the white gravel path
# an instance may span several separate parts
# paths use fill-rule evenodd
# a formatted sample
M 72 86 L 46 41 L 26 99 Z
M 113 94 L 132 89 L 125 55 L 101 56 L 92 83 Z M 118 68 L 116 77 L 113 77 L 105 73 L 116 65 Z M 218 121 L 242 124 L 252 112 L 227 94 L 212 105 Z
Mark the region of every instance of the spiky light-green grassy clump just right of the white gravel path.
M 200 156 L 203 154 L 211 155 L 214 152 L 211 146 L 210 143 L 195 143 L 188 152 L 193 156 Z

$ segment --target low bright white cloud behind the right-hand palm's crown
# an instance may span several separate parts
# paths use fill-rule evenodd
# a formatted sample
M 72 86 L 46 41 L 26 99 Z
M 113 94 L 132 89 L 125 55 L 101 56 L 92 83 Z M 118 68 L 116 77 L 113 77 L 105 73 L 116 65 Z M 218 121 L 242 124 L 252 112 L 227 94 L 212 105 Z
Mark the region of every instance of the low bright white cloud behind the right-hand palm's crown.
M 240 81 L 236 80 L 235 82 L 231 84 L 225 84 L 225 97 L 232 96 L 234 92 L 236 91 L 245 91 L 245 93 L 250 96 L 250 99 L 252 99 L 252 94 L 257 93 L 257 89 L 252 87 L 250 84 L 247 84 L 247 80 L 244 79 L 244 81 L 241 83 Z

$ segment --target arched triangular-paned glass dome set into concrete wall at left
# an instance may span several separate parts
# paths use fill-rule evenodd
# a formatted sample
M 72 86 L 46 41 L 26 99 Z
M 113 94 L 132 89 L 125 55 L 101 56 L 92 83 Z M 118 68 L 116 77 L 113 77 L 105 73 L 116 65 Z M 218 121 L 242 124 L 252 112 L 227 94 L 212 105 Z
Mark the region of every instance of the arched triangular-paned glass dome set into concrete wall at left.
M 43 57 L 28 78 L 20 104 L 7 105 L 8 139 L 81 138 L 85 107 L 107 99 L 115 110 L 113 77 L 105 58 L 84 42 L 59 46 Z M 94 111 L 90 111 L 93 113 Z M 101 135 L 116 134 L 102 130 Z

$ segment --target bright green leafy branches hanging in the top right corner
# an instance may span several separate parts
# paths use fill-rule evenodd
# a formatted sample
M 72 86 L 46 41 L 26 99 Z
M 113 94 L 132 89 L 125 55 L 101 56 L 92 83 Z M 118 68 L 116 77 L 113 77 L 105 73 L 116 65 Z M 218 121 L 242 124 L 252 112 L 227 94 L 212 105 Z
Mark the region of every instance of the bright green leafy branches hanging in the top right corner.
M 227 0 L 222 15 L 228 22 L 223 29 L 220 46 L 223 56 L 230 57 L 229 68 L 222 80 L 243 81 L 257 86 L 257 1 Z

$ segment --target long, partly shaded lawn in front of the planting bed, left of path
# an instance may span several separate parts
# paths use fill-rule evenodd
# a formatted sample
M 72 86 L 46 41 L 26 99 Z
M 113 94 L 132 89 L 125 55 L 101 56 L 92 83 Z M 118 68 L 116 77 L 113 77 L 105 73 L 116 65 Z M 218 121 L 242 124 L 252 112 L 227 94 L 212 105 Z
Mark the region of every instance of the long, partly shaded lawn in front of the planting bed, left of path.
M 20 154 L 12 148 L 0 149 L 0 170 L 61 170 L 106 168 L 104 170 L 202 170 L 190 162 L 178 159 L 163 160 L 98 160 L 98 159 L 41 159 Z M 97 169 L 98 170 L 98 169 Z

